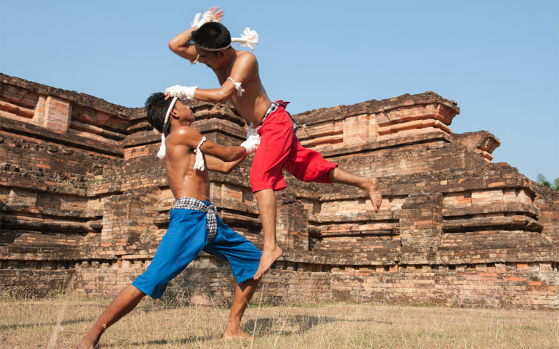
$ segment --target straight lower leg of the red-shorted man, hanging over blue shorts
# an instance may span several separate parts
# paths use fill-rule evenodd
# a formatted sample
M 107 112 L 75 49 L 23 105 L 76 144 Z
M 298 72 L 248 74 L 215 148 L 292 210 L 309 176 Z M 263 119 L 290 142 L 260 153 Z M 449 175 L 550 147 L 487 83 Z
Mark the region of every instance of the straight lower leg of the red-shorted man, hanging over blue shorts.
M 276 199 L 273 189 L 264 189 L 254 193 L 260 219 L 262 221 L 262 229 L 264 230 L 264 247 L 258 271 L 254 274 L 254 279 L 260 279 L 261 276 L 270 269 L 274 262 L 282 255 L 282 248 L 277 246 L 275 237 L 275 220 L 276 220 Z

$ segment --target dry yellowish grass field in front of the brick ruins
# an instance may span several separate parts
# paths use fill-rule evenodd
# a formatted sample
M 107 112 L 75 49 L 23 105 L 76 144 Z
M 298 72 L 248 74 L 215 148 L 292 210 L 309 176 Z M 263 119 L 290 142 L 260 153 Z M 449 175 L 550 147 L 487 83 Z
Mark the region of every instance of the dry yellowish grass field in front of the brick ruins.
M 73 348 L 108 299 L 0 302 L 0 348 Z M 220 339 L 228 309 L 144 299 L 98 348 L 559 348 L 559 312 L 386 304 L 247 309 L 252 339 Z

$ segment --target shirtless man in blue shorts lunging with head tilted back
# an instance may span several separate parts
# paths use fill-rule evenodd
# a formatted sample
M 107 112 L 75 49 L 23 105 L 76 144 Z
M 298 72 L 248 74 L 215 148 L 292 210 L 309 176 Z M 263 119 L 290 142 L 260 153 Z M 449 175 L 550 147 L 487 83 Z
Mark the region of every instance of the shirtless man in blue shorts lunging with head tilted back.
M 240 320 L 259 283 L 253 276 L 262 253 L 216 215 L 210 202 L 208 170 L 231 172 L 247 154 L 256 151 L 259 138 L 249 138 L 240 147 L 222 147 L 190 127 L 194 115 L 177 98 L 152 94 L 145 107 L 147 120 L 161 132 L 158 156 L 166 158 L 167 180 L 176 199 L 169 227 L 145 273 L 117 295 L 76 348 L 94 348 L 105 329 L 134 309 L 145 295 L 160 298 L 167 283 L 201 251 L 229 262 L 238 282 L 222 338 L 249 336 L 240 328 Z

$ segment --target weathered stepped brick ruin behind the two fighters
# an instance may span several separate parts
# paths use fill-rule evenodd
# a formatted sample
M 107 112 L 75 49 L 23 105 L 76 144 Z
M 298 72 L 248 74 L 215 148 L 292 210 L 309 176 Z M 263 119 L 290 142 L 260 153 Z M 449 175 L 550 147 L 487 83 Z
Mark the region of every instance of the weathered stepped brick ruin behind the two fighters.
M 149 265 L 173 195 L 143 108 L 0 74 L 0 293 L 116 295 Z M 240 144 L 229 105 L 192 104 L 194 127 Z M 277 194 L 284 255 L 263 302 L 342 300 L 559 309 L 559 194 L 507 163 L 487 131 L 454 134 L 456 103 L 433 92 L 294 115 L 305 147 L 381 179 L 365 193 L 286 175 Z M 248 158 L 210 173 L 211 199 L 261 248 Z M 200 255 L 165 297 L 231 301 L 228 266 Z

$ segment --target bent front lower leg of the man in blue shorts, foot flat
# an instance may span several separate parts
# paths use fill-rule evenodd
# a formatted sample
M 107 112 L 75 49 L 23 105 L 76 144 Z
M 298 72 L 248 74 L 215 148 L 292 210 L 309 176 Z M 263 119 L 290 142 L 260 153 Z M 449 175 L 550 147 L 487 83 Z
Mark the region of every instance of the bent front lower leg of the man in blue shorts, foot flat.
M 240 328 L 240 320 L 247 309 L 252 295 L 254 295 L 258 283 L 259 280 L 248 279 L 235 287 L 235 297 L 233 298 L 231 313 L 229 314 L 229 320 L 222 339 L 242 339 L 250 336 Z

